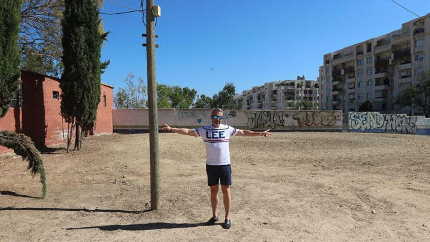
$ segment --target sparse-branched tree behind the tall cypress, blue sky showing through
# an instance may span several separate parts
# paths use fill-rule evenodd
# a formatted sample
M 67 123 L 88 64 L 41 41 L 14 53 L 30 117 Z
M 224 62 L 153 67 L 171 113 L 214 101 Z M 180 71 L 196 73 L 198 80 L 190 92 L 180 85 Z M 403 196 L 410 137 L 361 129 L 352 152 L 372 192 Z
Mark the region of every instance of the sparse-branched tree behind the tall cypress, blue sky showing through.
M 65 0 L 23 0 L 19 46 L 21 68 L 42 74 L 60 76 L 63 72 L 61 44 Z M 95 0 L 97 8 L 103 0 Z M 98 31 L 104 33 L 99 22 Z

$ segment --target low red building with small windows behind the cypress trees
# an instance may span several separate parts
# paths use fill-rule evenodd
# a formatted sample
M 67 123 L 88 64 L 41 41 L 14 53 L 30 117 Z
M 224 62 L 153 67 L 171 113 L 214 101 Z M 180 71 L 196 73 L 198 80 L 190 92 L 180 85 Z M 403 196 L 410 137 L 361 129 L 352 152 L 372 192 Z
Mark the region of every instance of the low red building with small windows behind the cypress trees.
M 65 143 L 67 123 L 60 115 L 60 79 L 30 71 L 21 71 L 17 99 L 6 116 L 0 119 L 0 130 L 30 136 L 36 146 Z M 113 87 L 101 85 L 100 103 L 94 132 L 112 133 Z M 0 154 L 10 150 L 0 146 Z

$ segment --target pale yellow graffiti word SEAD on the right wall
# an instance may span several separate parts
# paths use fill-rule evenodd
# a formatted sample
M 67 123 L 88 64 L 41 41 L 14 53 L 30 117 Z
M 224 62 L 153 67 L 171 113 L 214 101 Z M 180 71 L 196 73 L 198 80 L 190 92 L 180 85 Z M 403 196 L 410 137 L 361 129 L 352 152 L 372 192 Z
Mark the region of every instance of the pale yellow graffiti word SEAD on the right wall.
M 384 125 L 384 116 L 379 112 L 350 112 L 349 119 L 353 130 L 366 131 Z

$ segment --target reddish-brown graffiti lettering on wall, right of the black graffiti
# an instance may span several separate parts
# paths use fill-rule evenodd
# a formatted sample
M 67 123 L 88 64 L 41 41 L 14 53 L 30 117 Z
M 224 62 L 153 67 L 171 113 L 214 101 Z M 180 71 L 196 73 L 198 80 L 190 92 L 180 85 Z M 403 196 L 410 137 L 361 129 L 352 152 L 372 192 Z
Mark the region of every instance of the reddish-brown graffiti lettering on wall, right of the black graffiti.
M 293 114 L 293 119 L 297 120 L 300 128 L 303 126 L 333 126 L 339 115 L 336 115 L 334 111 L 298 111 Z

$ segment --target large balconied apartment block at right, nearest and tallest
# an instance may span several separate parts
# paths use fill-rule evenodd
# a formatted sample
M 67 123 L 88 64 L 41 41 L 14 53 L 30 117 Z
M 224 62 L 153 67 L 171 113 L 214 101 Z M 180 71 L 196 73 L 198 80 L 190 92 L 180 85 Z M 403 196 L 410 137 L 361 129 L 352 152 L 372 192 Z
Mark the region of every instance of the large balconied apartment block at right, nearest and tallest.
M 318 77 L 321 108 L 357 111 L 369 100 L 375 111 L 396 112 L 394 101 L 399 92 L 429 69 L 427 14 L 391 33 L 325 54 Z

